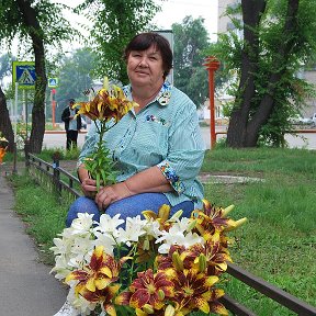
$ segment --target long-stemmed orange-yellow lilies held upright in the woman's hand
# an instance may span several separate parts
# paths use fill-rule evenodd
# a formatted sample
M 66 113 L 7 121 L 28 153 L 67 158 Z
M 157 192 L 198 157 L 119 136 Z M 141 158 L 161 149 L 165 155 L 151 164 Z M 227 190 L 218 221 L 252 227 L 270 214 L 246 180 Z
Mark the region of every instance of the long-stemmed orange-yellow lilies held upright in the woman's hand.
M 84 167 L 92 179 L 97 180 L 99 190 L 101 183 L 112 184 L 115 182 L 113 160 L 103 139 L 104 134 L 113 127 L 137 103 L 126 99 L 123 90 L 110 84 L 108 78 L 103 81 L 103 88 L 89 102 L 78 102 L 74 108 L 79 108 L 77 115 L 88 116 L 97 127 L 99 140 L 95 150 L 84 159 Z

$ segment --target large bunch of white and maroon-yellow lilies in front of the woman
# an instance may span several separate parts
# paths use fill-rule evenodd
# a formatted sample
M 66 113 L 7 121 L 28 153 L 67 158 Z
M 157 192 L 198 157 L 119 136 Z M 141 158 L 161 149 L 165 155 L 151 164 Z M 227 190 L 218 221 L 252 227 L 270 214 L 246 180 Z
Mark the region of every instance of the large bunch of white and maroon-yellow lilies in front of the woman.
M 227 216 L 234 205 L 203 203 L 190 218 L 182 211 L 169 218 L 168 205 L 144 211 L 144 219 L 103 214 L 95 223 L 79 214 L 52 247 L 52 271 L 69 285 L 68 303 L 81 315 L 228 315 L 218 301 L 232 261 L 226 232 L 246 218 Z

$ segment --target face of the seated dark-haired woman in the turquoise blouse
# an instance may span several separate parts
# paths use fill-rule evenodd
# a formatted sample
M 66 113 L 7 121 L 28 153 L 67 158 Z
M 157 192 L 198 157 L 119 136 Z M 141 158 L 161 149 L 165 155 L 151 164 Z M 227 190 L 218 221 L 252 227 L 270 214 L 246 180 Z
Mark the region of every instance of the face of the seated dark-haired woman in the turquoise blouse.
M 127 58 L 127 75 L 132 86 L 162 84 L 162 57 L 156 46 L 151 45 L 146 50 L 132 50 Z

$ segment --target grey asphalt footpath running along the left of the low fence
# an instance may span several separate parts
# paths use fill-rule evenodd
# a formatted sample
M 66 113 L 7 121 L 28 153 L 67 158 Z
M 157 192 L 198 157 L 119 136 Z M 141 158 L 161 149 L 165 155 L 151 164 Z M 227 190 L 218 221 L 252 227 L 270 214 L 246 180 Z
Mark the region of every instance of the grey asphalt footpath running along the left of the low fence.
M 1 168 L 1 166 L 0 166 Z M 14 196 L 0 173 L 0 315 L 53 316 L 67 289 L 38 262 L 25 225 L 13 211 Z

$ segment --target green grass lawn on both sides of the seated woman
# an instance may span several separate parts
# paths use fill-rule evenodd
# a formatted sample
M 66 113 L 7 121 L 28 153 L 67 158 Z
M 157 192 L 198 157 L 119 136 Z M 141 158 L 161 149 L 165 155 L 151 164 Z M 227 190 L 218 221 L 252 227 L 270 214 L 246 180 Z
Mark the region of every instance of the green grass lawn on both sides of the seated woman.
M 260 178 L 246 183 L 205 183 L 205 199 L 235 204 L 232 217 L 248 223 L 230 233 L 235 263 L 316 305 L 316 159 L 303 149 L 216 149 L 206 153 L 202 172 Z M 64 228 L 67 196 L 57 201 L 27 177 L 12 177 L 16 211 L 52 263 L 47 249 Z M 226 292 L 257 315 L 296 315 L 227 275 Z M 202 315 L 202 314 L 194 314 Z M 204 315 L 204 314 L 203 314 Z

